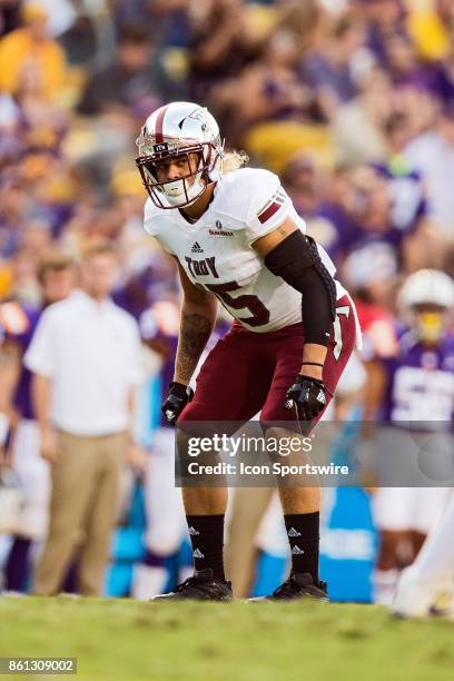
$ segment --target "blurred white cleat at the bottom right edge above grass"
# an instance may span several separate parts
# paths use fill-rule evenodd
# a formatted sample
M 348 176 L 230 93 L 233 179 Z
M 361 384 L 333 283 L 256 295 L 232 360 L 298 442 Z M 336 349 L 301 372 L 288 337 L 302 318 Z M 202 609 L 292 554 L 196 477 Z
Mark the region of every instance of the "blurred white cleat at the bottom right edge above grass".
M 414 568 L 402 571 L 391 604 L 391 611 L 399 618 L 427 618 L 453 613 L 454 593 L 450 579 L 427 582 Z

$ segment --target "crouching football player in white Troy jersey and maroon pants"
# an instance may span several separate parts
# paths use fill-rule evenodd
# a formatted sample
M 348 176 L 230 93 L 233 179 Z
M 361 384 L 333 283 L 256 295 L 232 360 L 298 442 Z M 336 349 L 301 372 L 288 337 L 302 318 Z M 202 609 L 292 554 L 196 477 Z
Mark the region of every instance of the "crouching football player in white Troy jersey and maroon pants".
M 149 194 L 145 229 L 176 258 L 184 293 L 166 418 L 179 426 L 210 421 L 239 427 L 260 412 L 263 424 L 293 422 L 306 432 L 322 416 L 359 337 L 332 261 L 305 235 L 278 177 L 241 168 L 241 155 L 224 152 L 207 109 L 191 102 L 159 108 L 137 145 Z M 235 322 L 209 353 L 193 398 L 188 385 L 214 328 L 217 300 Z M 279 494 L 293 560 L 272 598 L 326 599 L 318 576 L 319 490 L 288 486 Z M 182 497 L 195 573 L 160 598 L 230 600 L 223 563 L 227 490 L 184 487 Z

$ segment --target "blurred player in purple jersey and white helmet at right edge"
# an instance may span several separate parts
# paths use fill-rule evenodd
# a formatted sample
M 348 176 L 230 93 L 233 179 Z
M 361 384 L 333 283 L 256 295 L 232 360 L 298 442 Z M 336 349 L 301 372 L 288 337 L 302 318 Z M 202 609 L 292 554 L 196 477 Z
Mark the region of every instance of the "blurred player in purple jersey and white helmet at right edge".
M 393 465 L 396 476 L 402 470 L 407 474 L 408 485 L 412 484 L 409 458 L 406 458 L 412 430 L 416 446 L 418 442 L 423 446 L 424 433 L 446 438 L 447 451 L 453 444 L 454 336 L 450 324 L 454 282 L 442 272 L 420 270 L 404 283 L 398 305 L 404 326 L 398 333 L 397 352 L 394 357 L 381 361 L 382 418 L 393 427 L 382 428 L 377 442 L 378 466 L 388 467 L 388 486 L 379 487 L 373 495 L 379 530 L 375 575 L 378 602 L 389 602 L 399 570 L 416 557 L 427 533 L 438 522 L 448 493 L 442 483 L 425 487 L 414 481 L 420 486 L 393 486 L 396 484 L 392 478 Z M 436 463 L 436 451 L 435 441 L 428 442 L 432 445 L 427 457 L 432 463 L 428 461 L 426 471 L 422 472 L 430 474 L 431 465 Z

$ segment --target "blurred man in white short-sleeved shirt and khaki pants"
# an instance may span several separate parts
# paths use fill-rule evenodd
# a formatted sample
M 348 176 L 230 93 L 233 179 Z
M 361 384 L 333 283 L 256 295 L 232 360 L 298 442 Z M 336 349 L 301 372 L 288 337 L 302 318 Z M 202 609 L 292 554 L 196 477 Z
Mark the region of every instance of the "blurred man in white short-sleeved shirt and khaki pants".
M 141 379 L 138 327 L 109 297 L 116 273 L 112 248 L 93 246 L 81 264 L 82 290 L 43 313 L 24 356 L 34 374 L 41 455 L 52 464 L 49 535 L 34 586 L 43 595 L 59 592 L 76 555 L 80 593 L 101 592 Z

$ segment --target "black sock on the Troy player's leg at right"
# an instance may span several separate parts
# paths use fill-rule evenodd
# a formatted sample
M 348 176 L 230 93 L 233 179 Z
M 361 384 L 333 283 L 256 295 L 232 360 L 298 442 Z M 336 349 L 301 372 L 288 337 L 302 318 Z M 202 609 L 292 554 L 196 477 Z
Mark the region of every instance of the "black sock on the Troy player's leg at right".
M 308 572 L 318 584 L 318 545 L 320 514 L 295 513 L 284 515 L 292 551 L 292 570 Z

